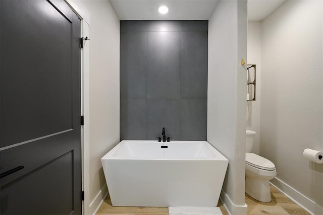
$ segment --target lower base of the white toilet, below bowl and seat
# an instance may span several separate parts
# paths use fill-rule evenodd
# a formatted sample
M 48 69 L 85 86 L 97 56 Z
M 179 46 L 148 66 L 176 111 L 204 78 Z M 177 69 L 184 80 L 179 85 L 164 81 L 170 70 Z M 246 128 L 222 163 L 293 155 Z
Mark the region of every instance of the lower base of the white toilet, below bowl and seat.
M 261 202 L 271 202 L 271 188 L 269 180 L 246 177 L 246 193 Z

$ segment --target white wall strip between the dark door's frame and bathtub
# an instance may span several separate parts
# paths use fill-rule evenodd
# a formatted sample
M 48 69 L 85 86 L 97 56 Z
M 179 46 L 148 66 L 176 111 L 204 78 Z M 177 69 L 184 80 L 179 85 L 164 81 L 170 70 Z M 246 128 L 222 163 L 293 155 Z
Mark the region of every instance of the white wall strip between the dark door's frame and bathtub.
M 107 193 L 101 157 L 119 143 L 120 24 L 107 0 L 82 0 L 90 12 L 89 210 L 93 214 Z

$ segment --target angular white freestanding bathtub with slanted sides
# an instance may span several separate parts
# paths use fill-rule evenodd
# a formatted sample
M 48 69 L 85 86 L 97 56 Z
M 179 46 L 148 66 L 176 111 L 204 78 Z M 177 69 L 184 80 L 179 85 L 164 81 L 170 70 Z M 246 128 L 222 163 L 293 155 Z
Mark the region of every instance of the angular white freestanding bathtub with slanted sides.
M 217 206 L 228 166 L 206 141 L 122 141 L 101 161 L 114 206 Z

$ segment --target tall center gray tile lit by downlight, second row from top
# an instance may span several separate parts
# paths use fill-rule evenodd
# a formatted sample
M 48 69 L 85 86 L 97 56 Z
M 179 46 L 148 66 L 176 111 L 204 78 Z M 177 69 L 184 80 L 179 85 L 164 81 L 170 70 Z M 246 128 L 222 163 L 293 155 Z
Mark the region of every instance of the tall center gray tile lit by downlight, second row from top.
M 148 32 L 147 99 L 180 99 L 180 32 Z

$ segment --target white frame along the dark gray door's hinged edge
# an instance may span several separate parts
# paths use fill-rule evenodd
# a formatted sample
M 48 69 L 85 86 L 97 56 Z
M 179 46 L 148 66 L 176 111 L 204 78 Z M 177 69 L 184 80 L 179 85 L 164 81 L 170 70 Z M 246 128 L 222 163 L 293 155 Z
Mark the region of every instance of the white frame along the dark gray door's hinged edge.
M 78 0 L 64 0 L 75 14 L 81 19 L 81 37 L 89 37 L 90 13 L 86 7 Z M 82 201 L 82 214 L 91 214 L 90 211 L 90 88 L 89 88 L 89 41 L 85 41 L 84 48 L 81 49 L 81 115 L 84 116 L 84 125 L 81 128 L 81 148 L 82 148 L 82 191 L 84 191 L 84 201 Z

